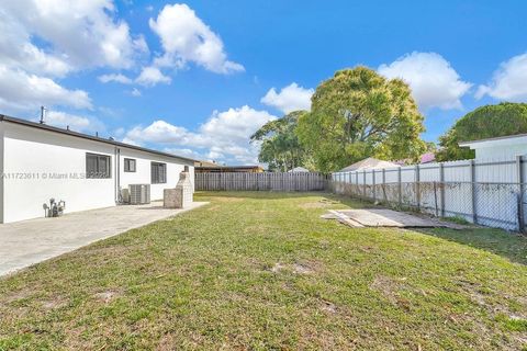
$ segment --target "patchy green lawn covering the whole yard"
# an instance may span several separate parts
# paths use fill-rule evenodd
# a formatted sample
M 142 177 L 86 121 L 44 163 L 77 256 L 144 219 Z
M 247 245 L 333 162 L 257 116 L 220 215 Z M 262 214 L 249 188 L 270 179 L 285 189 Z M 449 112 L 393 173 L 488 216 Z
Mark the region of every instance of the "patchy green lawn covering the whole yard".
M 0 350 L 527 350 L 527 238 L 349 228 L 324 194 L 211 204 L 0 280 Z

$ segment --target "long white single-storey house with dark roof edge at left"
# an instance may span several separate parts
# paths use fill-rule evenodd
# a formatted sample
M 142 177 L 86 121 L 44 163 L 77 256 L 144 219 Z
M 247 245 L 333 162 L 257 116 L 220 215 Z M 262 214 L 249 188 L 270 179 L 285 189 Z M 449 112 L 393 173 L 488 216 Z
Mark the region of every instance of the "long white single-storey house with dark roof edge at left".
M 66 213 L 114 206 L 128 184 L 150 184 L 150 199 L 175 188 L 194 160 L 0 115 L 0 223 L 43 217 L 49 199 Z

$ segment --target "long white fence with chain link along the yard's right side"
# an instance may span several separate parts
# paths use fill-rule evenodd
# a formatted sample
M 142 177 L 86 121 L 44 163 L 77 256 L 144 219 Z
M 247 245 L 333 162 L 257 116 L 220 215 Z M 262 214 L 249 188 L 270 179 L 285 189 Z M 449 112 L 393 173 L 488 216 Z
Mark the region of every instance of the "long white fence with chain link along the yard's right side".
M 525 229 L 527 158 L 462 160 L 336 172 L 339 194 L 507 230 Z

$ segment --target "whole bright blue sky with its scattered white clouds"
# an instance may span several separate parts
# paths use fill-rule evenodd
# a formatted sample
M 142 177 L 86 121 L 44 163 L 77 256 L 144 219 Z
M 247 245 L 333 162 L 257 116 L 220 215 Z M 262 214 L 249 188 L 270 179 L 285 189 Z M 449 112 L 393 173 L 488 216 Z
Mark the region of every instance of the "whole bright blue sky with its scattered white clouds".
M 253 163 L 262 123 L 366 65 L 408 81 L 436 140 L 479 105 L 527 101 L 526 11 L 519 0 L 7 1 L 0 113 L 35 118 L 44 104 L 51 124 Z

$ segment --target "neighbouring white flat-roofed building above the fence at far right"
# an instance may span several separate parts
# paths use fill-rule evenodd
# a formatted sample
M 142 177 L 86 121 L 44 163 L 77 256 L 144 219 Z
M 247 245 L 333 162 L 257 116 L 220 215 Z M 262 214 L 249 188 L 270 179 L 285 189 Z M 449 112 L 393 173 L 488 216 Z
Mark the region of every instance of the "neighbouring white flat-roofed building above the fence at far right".
M 459 146 L 475 150 L 476 159 L 511 159 L 527 155 L 527 134 L 464 141 L 459 143 Z

